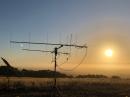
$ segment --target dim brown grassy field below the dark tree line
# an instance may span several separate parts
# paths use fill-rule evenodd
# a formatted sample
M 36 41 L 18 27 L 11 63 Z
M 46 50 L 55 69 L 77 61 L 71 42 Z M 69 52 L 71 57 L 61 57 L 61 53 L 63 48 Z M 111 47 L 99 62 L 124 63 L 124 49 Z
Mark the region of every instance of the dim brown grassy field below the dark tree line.
M 130 97 L 130 80 L 58 78 L 62 97 Z M 51 78 L 0 78 L 0 97 L 53 97 Z M 58 96 L 57 96 L 58 97 Z

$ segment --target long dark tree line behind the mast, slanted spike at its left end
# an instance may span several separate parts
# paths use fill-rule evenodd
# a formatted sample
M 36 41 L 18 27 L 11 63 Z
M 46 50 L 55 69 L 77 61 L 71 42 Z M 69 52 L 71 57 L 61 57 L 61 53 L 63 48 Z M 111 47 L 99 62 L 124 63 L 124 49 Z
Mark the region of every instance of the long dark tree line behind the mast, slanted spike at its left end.
M 44 77 L 44 78 L 51 78 L 54 77 L 54 71 L 51 70 L 18 70 L 17 68 L 14 68 L 10 65 L 10 63 L 2 58 L 2 61 L 5 63 L 6 66 L 0 66 L 0 76 L 6 76 L 6 77 Z M 68 76 L 66 74 L 56 72 L 56 77 L 72 77 Z

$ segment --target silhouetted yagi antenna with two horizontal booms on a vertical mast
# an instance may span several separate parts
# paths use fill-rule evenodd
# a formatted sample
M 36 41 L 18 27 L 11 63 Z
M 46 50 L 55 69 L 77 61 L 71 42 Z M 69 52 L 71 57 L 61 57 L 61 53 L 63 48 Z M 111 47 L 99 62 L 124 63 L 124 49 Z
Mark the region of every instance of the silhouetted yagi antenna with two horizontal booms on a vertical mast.
M 36 52 L 46 52 L 46 53 L 53 53 L 54 54 L 54 95 L 53 97 L 56 97 L 56 93 L 58 92 L 57 90 L 57 76 L 56 76 L 56 72 L 57 72 L 57 55 L 58 54 L 69 54 L 69 53 L 65 53 L 65 52 L 59 52 L 59 50 L 63 47 L 70 47 L 71 48 L 82 48 L 82 49 L 86 49 L 87 46 L 86 45 L 76 45 L 76 44 L 72 44 L 72 34 L 70 37 L 70 44 L 63 44 L 63 43 L 46 43 L 46 42 L 26 42 L 26 41 L 10 41 L 10 43 L 14 43 L 14 44 L 33 44 L 33 45 L 53 45 L 55 46 L 53 48 L 52 51 L 44 51 L 44 50 L 31 50 L 31 49 L 22 49 L 22 50 L 26 50 L 26 51 L 36 51 Z M 59 95 L 61 97 L 61 95 Z

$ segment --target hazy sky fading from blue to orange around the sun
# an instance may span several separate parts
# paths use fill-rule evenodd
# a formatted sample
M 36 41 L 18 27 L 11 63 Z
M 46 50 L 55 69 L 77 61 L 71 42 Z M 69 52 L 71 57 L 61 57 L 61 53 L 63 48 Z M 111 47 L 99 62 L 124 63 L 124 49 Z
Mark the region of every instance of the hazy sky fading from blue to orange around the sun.
M 69 43 L 71 34 L 73 43 L 87 44 L 88 54 L 79 68 L 68 73 L 130 75 L 130 0 L 0 0 L 0 56 L 13 66 L 52 69 L 52 54 L 21 49 L 54 47 L 10 44 L 10 40 Z M 112 57 L 104 55 L 108 48 Z M 77 57 L 62 68 L 73 68 L 85 51 L 72 53 Z M 60 58 L 62 64 L 66 57 Z

